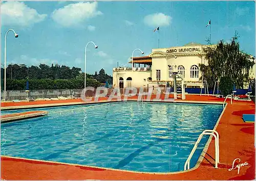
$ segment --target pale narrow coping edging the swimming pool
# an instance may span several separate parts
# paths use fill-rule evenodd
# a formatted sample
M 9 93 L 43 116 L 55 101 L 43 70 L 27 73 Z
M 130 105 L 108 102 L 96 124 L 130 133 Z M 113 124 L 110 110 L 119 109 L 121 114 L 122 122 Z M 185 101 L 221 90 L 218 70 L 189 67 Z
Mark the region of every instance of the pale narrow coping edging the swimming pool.
M 137 100 L 115 100 L 115 101 L 100 101 L 100 102 L 88 102 L 88 103 L 84 103 L 86 105 L 90 105 L 90 104 L 97 104 L 97 103 L 110 103 L 110 102 L 126 102 L 126 101 L 137 101 Z M 140 101 L 141 102 L 141 101 Z M 182 104 L 210 104 L 210 105 L 222 105 L 223 102 L 215 102 L 215 101 L 183 101 L 183 100 L 179 100 L 179 101 L 146 101 L 145 102 L 155 102 L 155 103 L 182 103 Z M 208 103 L 209 102 L 209 103 Z M 75 105 L 61 105 L 61 106 L 76 106 L 76 105 L 84 105 L 81 104 L 81 102 L 77 102 L 80 104 L 75 104 Z M 227 107 L 227 103 L 225 104 L 215 126 L 214 126 L 214 131 L 216 131 L 217 126 L 219 125 L 219 122 L 222 118 L 222 115 L 224 114 L 226 107 Z M 60 105 L 59 105 L 60 106 Z M 50 106 L 50 107 L 58 107 L 58 106 Z M 36 107 L 35 107 L 36 108 Z M 39 108 L 44 108 L 44 107 L 39 107 Z M 97 168 L 97 169 L 104 169 L 104 170 L 113 170 L 113 171 L 121 171 L 121 172 L 131 172 L 131 173 L 143 173 L 143 174 L 158 174 L 158 175 L 168 175 L 168 174 L 179 174 L 179 173 L 185 173 L 185 172 L 189 172 L 189 171 L 193 171 L 199 168 L 199 166 L 201 165 L 204 156 L 209 148 L 210 142 L 212 140 L 212 136 L 210 135 L 205 146 L 204 149 L 202 150 L 199 159 L 197 160 L 197 163 L 194 167 L 187 169 L 187 170 L 182 170 L 182 171 L 175 171 L 175 172 L 141 172 L 141 171 L 132 171 L 132 170 L 122 170 L 122 169 L 115 169 L 115 168 L 107 168 L 107 167 L 97 167 L 97 166 L 89 166 L 89 165 L 80 165 L 80 164 L 72 164 L 72 163 L 64 163 L 64 162 L 54 162 L 54 161 L 46 161 L 46 160 L 37 160 L 37 159 L 27 159 L 27 158 L 20 158 L 20 157 L 11 157 L 11 156 L 5 156 L 5 155 L 1 155 L 1 157 L 4 158 L 11 158 L 11 159 L 19 159 L 19 160 L 29 160 L 29 161 L 36 161 L 36 162 L 45 162 L 45 163 L 54 163 L 54 164 L 61 164 L 61 165 L 70 165 L 70 166 L 79 166 L 79 167 L 89 167 L 89 168 Z M 190 153 L 189 153 L 190 154 Z

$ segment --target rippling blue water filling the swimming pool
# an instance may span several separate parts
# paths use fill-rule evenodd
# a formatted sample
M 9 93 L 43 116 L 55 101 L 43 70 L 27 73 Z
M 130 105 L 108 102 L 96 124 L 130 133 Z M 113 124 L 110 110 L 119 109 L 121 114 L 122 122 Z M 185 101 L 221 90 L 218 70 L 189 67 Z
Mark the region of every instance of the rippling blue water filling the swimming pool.
M 173 172 L 183 170 L 198 136 L 214 128 L 223 109 L 222 105 L 117 102 L 43 110 L 52 114 L 1 125 L 2 155 Z M 207 140 L 203 137 L 190 168 Z

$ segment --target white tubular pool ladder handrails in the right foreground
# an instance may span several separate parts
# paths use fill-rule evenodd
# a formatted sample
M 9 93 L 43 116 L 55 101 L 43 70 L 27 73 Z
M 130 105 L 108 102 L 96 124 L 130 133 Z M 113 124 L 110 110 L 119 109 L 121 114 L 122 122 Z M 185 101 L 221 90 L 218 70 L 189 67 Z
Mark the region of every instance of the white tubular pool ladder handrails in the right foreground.
M 215 168 L 218 168 L 218 163 L 220 163 L 219 134 L 215 130 L 205 130 L 200 134 L 200 136 L 197 139 L 197 142 L 195 143 L 192 151 L 190 152 L 190 154 L 187 158 L 187 161 L 185 162 L 184 170 L 188 170 L 190 168 L 190 166 L 189 166 L 190 160 L 191 160 L 193 154 L 195 153 L 197 146 L 204 135 L 211 135 L 211 136 L 214 136 L 214 138 L 215 138 Z

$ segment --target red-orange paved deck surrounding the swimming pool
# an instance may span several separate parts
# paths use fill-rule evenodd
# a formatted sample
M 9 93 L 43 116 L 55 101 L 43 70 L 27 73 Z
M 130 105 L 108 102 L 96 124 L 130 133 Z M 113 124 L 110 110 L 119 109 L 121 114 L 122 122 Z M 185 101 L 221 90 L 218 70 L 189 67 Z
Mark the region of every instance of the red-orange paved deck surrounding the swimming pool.
M 132 97 L 136 98 L 136 97 Z M 99 100 L 106 100 L 100 98 Z M 186 95 L 186 100 L 192 101 L 224 101 L 224 98 L 212 96 Z M 3 107 L 26 106 L 40 104 L 61 104 L 62 102 L 79 102 L 75 100 L 52 100 L 33 102 L 6 102 Z M 54 103 L 53 103 L 54 102 Z M 220 135 L 220 164 L 214 168 L 215 146 L 211 140 L 205 157 L 197 169 L 176 174 L 148 174 L 130 171 L 117 171 L 102 168 L 92 168 L 78 165 L 49 163 L 17 158 L 1 158 L 1 178 L 6 180 L 84 180 L 84 179 L 108 179 L 108 180 L 252 180 L 255 179 L 255 147 L 254 147 L 254 123 L 244 123 L 242 114 L 254 114 L 255 104 L 252 101 L 227 100 L 228 105 L 220 119 L 216 131 Z M 233 161 L 238 164 L 247 163 L 245 166 L 229 171 Z

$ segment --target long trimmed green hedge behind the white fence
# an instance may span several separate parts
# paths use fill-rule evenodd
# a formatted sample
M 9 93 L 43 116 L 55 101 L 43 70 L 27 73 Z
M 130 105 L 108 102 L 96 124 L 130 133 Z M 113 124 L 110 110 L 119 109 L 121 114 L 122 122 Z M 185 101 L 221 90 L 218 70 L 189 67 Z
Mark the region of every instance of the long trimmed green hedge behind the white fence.
M 29 89 L 82 89 L 84 88 L 84 81 L 81 79 L 69 79 L 69 80 L 28 80 Z M 4 80 L 2 82 L 2 90 L 4 90 Z M 6 89 L 7 90 L 25 90 L 27 80 L 6 80 Z M 86 86 L 98 87 L 101 84 L 94 79 L 86 79 Z

